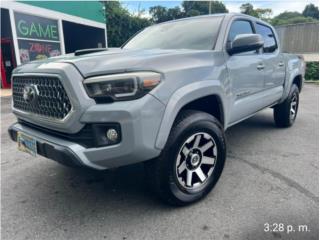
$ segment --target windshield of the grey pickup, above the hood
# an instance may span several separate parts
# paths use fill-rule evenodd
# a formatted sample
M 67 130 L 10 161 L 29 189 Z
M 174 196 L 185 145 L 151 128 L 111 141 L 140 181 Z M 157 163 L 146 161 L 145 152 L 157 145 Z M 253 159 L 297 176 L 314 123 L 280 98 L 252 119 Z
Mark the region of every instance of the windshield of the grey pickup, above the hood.
M 213 49 L 222 17 L 168 22 L 148 27 L 134 36 L 124 49 Z

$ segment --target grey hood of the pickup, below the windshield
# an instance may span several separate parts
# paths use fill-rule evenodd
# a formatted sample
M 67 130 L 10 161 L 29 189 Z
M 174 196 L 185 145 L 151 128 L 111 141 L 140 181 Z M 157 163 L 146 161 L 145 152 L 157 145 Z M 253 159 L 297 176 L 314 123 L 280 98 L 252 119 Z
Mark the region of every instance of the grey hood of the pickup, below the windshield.
M 111 49 L 107 51 L 74 56 L 62 55 L 41 61 L 33 61 L 21 65 L 15 72 L 33 71 L 36 68 L 45 68 L 50 62 L 63 62 L 73 64 L 84 77 L 120 73 L 127 71 L 157 71 L 166 73 L 213 65 L 214 51 L 200 50 L 126 50 Z

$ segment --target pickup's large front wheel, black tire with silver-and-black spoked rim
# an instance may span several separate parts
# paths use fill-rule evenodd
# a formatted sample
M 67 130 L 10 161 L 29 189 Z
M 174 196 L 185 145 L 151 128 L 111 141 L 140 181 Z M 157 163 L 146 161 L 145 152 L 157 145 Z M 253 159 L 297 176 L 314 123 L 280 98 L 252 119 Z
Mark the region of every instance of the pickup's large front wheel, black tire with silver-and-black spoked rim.
M 226 158 L 224 131 L 212 115 L 179 114 L 160 157 L 146 162 L 151 187 L 165 202 L 187 205 L 217 183 Z

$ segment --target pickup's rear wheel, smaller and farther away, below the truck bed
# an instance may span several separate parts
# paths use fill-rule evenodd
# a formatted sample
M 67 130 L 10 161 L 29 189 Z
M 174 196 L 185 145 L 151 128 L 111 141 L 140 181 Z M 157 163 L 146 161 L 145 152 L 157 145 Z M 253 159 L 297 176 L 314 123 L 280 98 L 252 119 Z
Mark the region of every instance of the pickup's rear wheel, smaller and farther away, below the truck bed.
M 273 117 L 276 126 L 291 127 L 297 118 L 298 107 L 299 88 L 296 84 L 293 84 L 287 99 L 274 107 Z

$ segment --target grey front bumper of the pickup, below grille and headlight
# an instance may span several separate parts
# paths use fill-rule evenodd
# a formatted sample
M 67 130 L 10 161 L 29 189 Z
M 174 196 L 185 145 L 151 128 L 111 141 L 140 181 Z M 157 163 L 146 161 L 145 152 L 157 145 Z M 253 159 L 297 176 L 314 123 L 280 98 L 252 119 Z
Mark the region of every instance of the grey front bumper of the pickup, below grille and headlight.
M 44 157 L 65 165 L 103 170 L 159 156 L 155 141 L 164 109 L 165 106 L 151 95 L 130 102 L 89 107 L 80 118 L 81 124 L 119 123 L 121 126 L 121 142 L 104 147 L 88 148 L 23 123 L 13 124 L 9 133 L 14 141 L 17 132 L 35 138 L 38 153 Z

